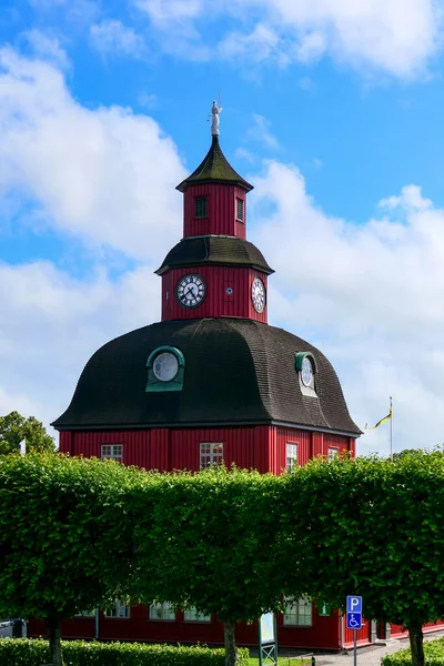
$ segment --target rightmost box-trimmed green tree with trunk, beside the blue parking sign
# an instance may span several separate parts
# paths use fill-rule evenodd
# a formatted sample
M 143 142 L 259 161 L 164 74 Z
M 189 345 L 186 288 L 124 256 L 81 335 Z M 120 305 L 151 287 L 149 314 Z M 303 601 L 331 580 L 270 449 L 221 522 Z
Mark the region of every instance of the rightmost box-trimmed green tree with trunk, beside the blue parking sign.
M 307 593 L 339 608 L 362 595 L 366 617 L 408 629 L 423 666 L 422 625 L 444 615 L 442 453 L 316 460 L 284 484 Z M 289 592 L 300 586 L 297 576 Z

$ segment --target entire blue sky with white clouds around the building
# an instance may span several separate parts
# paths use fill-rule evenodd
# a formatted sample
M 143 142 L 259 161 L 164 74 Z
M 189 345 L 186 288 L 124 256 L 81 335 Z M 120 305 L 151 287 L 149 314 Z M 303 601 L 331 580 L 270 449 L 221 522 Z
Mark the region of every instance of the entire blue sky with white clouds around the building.
M 441 443 L 443 9 L 3 0 L 0 413 L 48 424 L 100 344 L 159 319 L 174 185 L 220 94 L 249 235 L 278 270 L 271 322 L 330 356 L 361 426 L 393 394 L 400 447 Z M 385 431 L 360 443 L 386 450 Z

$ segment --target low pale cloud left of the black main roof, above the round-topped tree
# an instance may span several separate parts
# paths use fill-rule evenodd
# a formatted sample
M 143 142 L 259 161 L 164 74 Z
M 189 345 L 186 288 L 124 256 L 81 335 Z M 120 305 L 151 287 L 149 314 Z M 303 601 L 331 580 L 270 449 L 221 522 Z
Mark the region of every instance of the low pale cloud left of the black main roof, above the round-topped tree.
M 115 335 L 159 319 L 160 280 L 139 268 L 81 282 L 38 262 L 0 264 L 0 414 L 48 426 L 68 406 L 90 355 Z

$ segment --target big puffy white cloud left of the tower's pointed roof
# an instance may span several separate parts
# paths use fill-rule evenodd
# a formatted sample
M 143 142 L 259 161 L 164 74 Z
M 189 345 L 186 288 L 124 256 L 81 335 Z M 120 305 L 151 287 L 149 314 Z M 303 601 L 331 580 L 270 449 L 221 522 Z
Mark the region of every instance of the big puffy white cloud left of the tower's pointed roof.
M 159 260 L 180 236 L 185 173 L 152 118 L 87 109 L 57 68 L 0 51 L 0 200 L 19 191 L 40 224 Z

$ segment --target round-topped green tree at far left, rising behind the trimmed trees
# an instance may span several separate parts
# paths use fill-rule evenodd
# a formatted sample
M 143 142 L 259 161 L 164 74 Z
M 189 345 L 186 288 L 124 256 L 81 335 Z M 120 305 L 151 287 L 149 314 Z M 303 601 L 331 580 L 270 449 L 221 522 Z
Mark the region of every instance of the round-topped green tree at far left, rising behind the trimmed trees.
M 27 442 L 27 453 L 52 453 L 56 450 L 53 437 L 34 416 L 24 418 L 18 412 L 0 416 L 0 455 L 18 453 L 23 440 Z

